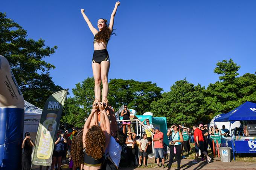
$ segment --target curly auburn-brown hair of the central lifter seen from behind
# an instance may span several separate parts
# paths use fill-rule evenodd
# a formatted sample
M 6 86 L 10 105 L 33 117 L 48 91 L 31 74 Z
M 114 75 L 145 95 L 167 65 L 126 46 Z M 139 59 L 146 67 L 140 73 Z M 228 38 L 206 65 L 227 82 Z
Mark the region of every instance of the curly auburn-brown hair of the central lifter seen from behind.
M 100 159 L 104 154 L 105 135 L 100 126 L 94 125 L 85 135 L 85 152 L 94 159 Z

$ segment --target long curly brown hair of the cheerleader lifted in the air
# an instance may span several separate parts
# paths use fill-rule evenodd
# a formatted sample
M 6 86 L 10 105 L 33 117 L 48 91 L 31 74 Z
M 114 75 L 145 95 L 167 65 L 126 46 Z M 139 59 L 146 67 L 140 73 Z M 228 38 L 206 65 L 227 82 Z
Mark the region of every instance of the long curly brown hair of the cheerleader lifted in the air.
M 105 21 L 105 27 L 103 27 L 101 29 L 101 31 L 98 32 L 98 34 L 95 35 L 95 39 L 96 39 L 96 42 L 99 44 L 101 42 L 104 42 L 105 44 L 108 42 L 108 40 L 110 39 L 110 36 L 111 36 L 111 33 L 112 31 L 110 30 L 110 28 L 108 27 L 108 20 L 106 19 L 103 19 L 103 18 L 100 18 L 102 20 Z M 100 20 L 99 19 L 99 20 Z

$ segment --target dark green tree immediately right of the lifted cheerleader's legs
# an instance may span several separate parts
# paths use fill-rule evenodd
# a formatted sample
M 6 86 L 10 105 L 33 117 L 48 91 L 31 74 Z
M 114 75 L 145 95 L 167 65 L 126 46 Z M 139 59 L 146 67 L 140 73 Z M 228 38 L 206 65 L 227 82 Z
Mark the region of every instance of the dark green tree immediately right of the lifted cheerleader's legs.
M 109 101 L 114 108 L 127 104 L 128 108 L 143 114 L 150 110 L 150 104 L 161 98 L 162 88 L 151 81 L 111 79 L 109 83 Z

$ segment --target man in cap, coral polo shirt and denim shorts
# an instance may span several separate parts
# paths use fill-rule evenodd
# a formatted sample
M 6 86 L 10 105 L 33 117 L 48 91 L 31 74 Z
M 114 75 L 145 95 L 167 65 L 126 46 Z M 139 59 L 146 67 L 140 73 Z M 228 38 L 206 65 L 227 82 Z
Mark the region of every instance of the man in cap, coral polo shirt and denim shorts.
M 165 168 L 165 157 L 163 154 L 163 132 L 160 132 L 158 127 L 155 127 L 155 135 L 153 141 L 155 146 L 155 159 L 157 159 L 156 168 Z M 162 166 L 159 165 L 159 158 L 162 159 Z

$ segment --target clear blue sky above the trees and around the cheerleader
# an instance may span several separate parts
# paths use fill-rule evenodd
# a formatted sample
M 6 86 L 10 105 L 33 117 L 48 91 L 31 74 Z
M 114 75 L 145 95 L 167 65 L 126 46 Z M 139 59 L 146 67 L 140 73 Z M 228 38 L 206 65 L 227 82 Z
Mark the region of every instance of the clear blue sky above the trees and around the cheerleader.
M 27 30 L 27 38 L 43 38 L 58 46 L 45 58 L 56 66 L 53 81 L 72 88 L 92 77 L 93 35 L 80 9 L 96 27 L 110 19 L 114 0 L 2 1 L 6 12 Z M 208 86 L 218 80 L 216 62 L 232 58 L 239 75 L 256 71 L 255 0 L 120 0 L 108 43 L 109 78 L 152 81 L 165 92 L 185 77 Z

